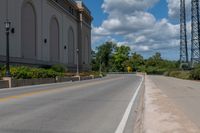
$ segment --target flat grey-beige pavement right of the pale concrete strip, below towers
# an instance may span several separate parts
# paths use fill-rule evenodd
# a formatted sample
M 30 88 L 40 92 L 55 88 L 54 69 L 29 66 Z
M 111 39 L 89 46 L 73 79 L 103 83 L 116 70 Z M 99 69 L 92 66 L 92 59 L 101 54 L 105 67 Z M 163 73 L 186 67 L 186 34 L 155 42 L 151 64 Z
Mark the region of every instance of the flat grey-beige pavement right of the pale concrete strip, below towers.
M 150 78 L 200 128 L 200 82 L 163 76 Z

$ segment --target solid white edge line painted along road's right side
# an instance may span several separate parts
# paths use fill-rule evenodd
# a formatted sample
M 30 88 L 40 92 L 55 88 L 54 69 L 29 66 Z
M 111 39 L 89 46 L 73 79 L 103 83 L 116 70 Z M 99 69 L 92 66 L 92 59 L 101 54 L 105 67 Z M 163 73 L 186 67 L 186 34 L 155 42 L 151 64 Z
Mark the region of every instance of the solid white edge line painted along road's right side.
M 126 111 L 125 111 L 125 113 L 123 115 L 123 118 L 122 118 L 121 122 L 119 123 L 115 133 L 123 133 L 124 132 L 124 129 L 126 127 L 126 123 L 128 121 L 129 115 L 131 113 L 131 108 L 132 108 L 132 106 L 133 106 L 133 104 L 134 104 L 134 102 L 135 102 L 135 100 L 137 98 L 137 95 L 138 95 L 138 93 L 140 91 L 140 88 L 142 86 L 143 81 L 144 81 L 144 77 L 142 77 L 141 83 L 139 84 L 137 90 L 135 91 L 135 93 L 133 95 L 133 98 L 129 102 L 128 107 L 126 108 Z

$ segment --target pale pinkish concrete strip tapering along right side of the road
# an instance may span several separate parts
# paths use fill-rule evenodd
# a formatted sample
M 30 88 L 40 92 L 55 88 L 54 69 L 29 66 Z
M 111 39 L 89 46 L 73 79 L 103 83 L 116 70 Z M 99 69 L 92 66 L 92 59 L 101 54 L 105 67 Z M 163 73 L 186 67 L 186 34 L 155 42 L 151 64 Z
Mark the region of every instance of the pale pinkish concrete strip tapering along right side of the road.
M 148 76 L 145 86 L 144 133 L 200 133 Z

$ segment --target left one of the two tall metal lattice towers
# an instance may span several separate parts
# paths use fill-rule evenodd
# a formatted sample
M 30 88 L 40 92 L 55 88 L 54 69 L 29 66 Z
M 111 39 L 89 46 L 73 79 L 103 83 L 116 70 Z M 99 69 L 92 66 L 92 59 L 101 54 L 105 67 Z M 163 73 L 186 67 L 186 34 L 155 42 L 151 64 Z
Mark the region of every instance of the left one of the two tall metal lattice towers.
M 188 65 L 185 0 L 180 0 L 180 64 Z

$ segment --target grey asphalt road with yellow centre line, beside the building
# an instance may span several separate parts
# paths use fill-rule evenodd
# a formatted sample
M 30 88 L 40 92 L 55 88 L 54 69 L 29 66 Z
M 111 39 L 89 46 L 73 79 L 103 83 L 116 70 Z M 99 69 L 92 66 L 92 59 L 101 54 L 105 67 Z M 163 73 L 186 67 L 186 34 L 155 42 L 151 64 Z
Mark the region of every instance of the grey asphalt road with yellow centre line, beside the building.
M 115 75 L 0 90 L 0 133 L 115 133 L 141 80 Z

